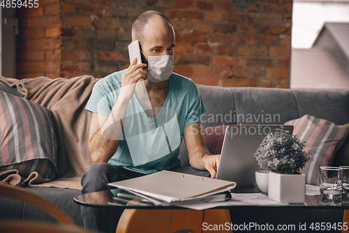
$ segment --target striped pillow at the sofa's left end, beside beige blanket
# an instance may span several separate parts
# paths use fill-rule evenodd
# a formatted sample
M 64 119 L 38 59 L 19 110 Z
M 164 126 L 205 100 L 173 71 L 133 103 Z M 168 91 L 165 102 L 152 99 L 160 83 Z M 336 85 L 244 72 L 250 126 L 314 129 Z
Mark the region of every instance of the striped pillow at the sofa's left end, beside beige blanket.
M 57 141 L 50 110 L 0 91 L 0 136 L 0 170 L 55 178 Z

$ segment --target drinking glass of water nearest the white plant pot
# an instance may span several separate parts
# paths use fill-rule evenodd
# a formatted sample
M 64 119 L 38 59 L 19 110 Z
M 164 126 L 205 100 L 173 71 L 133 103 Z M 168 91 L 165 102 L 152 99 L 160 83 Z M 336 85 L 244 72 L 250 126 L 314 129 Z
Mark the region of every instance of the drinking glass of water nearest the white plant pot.
M 342 177 L 340 167 L 320 167 L 320 205 L 341 206 Z

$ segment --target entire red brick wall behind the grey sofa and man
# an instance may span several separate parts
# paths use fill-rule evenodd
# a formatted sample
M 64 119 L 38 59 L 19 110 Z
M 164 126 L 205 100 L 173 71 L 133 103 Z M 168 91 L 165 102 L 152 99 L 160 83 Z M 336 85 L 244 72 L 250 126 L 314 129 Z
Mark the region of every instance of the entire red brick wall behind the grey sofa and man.
M 151 9 L 176 31 L 175 72 L 207 85 L 289 86 L 291 0 L 40 0 L 21 15 L 17 74 L 124 69 L 132 22 Z

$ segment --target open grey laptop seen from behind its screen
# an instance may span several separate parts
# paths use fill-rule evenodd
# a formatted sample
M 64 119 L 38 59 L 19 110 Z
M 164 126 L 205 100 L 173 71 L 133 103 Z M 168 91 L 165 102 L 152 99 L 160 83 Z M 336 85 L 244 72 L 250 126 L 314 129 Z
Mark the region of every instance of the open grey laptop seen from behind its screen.
M 293 132 L 293 125 L 229 125 L 225 130 L 216 178 L 234 181 L 237 188 L 256 188 L 255 171 L 260 170 L 260 166 L 254 153 L 265 136 L 279 128 L 289 134 Z

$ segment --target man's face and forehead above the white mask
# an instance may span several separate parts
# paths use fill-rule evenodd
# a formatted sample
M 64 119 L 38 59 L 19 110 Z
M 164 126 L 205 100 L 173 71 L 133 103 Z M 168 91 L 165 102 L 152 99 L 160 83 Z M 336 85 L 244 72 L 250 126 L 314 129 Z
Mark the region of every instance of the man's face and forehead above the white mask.
M 144 28 L 142 52 L 148 56 L 173 55 L 174 31 L 163 17 L 156 16 L 149 20 Z M 142 61 L 147 64 L 147 59 Z

